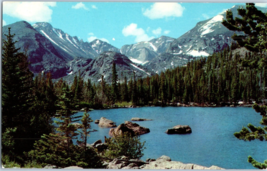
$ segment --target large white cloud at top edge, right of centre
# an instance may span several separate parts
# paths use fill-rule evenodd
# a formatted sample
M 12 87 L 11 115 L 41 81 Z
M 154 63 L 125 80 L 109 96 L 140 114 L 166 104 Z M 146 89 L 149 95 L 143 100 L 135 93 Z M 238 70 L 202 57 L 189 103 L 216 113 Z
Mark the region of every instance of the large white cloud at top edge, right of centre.
M 143 10 L 143 15 L 150 19 L 181 17 L 184 10 L 185 8 L 178 3 L 156 2 L 150 6 L 150 9 Z

